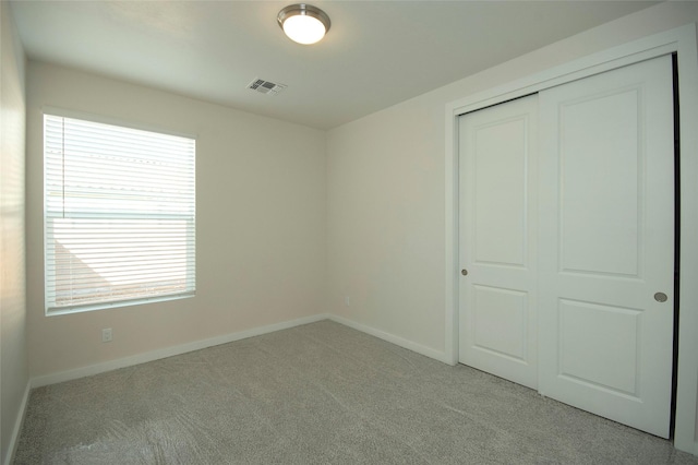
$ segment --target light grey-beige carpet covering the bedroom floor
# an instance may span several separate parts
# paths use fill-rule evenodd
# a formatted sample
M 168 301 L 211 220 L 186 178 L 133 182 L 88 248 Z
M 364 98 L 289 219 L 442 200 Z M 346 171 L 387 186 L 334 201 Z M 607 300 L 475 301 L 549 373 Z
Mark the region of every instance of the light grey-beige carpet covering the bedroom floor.
M 698 464 L 329 321 L 32 391 L 15 464 Z

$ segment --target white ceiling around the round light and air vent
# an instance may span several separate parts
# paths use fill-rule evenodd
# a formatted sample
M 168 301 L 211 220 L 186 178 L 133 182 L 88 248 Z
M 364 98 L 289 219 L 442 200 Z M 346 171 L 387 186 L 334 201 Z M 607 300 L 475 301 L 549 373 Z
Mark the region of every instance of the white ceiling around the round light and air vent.
M 29 59 L 328 129 L 633 13 L 647 1 L 313 1 L 324 40 L 286 38 L 292 1 L 12 1 Z M 255 78 L 287 84 L 270 96 Z

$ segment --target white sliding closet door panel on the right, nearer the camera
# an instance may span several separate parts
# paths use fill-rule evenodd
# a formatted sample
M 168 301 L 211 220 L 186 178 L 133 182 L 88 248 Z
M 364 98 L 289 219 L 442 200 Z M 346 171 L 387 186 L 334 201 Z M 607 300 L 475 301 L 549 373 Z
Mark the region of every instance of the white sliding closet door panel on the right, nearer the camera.
M 541 92 L 539 391 L 666 438 L 670 57 Z

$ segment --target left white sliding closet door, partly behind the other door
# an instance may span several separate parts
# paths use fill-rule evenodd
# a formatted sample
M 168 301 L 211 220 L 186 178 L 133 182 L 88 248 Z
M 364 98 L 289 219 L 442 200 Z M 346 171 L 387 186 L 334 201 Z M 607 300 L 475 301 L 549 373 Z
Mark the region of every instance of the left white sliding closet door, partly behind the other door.
M 460 117 L 460 362 L 535 388 L 537 96 Z M 465 272 L 464 272 L 465 273 Z

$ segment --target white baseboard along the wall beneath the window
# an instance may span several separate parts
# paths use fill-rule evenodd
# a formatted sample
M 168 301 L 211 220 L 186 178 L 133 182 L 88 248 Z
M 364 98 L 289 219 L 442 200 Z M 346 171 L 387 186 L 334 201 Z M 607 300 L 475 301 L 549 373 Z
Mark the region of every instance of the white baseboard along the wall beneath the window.
M 76 380 L 79 378 L 91 377 L 93 374 L 104 373 L 106 371 L 117 370 L 119 368 L 132 367 L 134 365 L 186 354 L 189 351 L 200 350 L 206 347 L 213 347 L 220 344 L 232 343 L 234 341 L 246 339 L 248 337 L 274 333 L 280 330 L 288 330 L 289 327 L 300 326 L 303 324 L 315 323 L 321 320 L 327 320 L 327 318 L 328 315 L 326 314 L 315 314 L 312 317 L 284 321 L 281 323 L 269 324 L 266 326 L 253 327 L 251 330 L 240 331 L 238 333 L 226 334 L 208 339 L 195 341 L 193 343 L 152 350 L 144 354 L 134 355 L 132 357 L 119 358 L 116 360 L 105 361 L 103 363 L 95 363 L 87 367 L 75 368 L 73 370 L 45 374 L 43 377 L 33 378 L 31 381 L 31 385 L 32 388 L 40 388 L 49 384 L 61 383 L 64 381 Z

